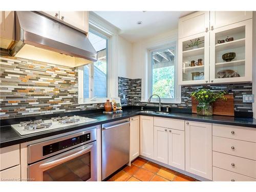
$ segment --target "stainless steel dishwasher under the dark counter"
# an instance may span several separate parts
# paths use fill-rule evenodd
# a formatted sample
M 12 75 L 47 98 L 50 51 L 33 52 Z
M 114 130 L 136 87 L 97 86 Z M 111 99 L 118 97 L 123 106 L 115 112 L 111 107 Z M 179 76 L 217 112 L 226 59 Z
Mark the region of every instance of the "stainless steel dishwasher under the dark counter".
M 130 121 L 123 119 L 101 125 L 101 179 L 130 160 Z

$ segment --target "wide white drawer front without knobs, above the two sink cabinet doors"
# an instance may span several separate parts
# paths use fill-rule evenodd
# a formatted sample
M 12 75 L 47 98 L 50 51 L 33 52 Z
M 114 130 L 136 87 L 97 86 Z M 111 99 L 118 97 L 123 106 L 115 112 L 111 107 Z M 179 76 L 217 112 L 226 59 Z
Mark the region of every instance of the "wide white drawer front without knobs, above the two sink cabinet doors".
M 154 117 L 154 125 L 166 127 L 174 130 L 181 130 L 184 131 L 185 121 L 181 119 L 169 119 L 169 118 L 162 118 L 162 117 Z

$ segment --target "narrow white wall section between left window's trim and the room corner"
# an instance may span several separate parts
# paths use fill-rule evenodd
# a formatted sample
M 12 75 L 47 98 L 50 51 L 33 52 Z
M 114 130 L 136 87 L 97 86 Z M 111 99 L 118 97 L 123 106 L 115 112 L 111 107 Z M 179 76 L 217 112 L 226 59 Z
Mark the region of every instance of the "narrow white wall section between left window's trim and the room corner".
M 117 74 L 119 77 L 131 78 L 133 70 L 131 68 L 133 62 L 133 45 L 132 42 L 118 36 L 117 50 Z

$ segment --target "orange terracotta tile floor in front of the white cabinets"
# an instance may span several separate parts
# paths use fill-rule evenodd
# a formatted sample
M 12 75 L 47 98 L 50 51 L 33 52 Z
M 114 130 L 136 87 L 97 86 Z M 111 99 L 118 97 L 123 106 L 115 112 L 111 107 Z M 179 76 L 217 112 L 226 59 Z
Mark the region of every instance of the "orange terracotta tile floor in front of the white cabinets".
M 137 158 L 108 181 L 197 181 L 172 169 Z

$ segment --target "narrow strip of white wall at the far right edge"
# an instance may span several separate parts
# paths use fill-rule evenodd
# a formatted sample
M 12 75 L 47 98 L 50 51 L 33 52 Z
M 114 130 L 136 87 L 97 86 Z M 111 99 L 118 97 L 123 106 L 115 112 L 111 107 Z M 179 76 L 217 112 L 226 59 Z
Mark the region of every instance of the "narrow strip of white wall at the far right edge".
M 252 28 L 252 94 L 256 97 L 256 11 L 253 11 Z M 256 102 L 252 104 L 253 117 L 256 118 Z

